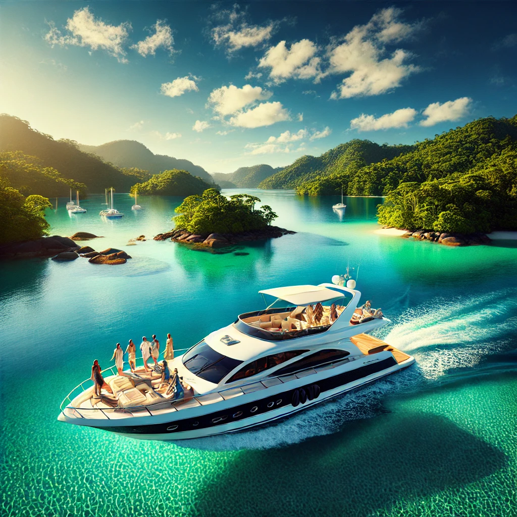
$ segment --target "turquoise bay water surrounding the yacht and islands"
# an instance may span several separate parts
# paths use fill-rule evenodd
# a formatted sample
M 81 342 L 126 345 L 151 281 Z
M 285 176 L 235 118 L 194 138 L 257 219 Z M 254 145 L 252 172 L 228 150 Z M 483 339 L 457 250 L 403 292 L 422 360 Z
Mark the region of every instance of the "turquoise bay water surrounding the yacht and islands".
M 0 264 L 0 515 L 517 515 L 517 249 L 376 234 L 380 199 L 347 198 L 340 220 L 338 197 L 251 192 L 298 233 L 220 255 L 128 246 L 170 230 L 181 200 L 141 197 L 132 212 L 117 194 L 126 216 L 104 221 L 103 196 L 72 217 L 60 199 L 53 233 L 103 235 L 86 244 L 132 260 Z M 380 336 L 415 367 L 278 424 L 187 443 L 56 420 L 117 341 L 171 332 L 188 347 L 262 308 L 258 290 L 329 281 L 347 262 L 393 321 Z

